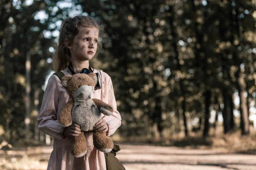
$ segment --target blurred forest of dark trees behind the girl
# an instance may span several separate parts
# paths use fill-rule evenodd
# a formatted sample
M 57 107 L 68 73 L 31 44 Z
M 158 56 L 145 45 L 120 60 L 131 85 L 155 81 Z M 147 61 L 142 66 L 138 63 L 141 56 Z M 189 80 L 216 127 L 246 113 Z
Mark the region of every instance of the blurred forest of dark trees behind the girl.
M 120 138 L 254 134 L 255 9 L 256 0 L 1 0 L 0 142 L 49 143 L 36 118 L 61 22 L 76 15 L 105 25 L 91 65 L 112 78 Z

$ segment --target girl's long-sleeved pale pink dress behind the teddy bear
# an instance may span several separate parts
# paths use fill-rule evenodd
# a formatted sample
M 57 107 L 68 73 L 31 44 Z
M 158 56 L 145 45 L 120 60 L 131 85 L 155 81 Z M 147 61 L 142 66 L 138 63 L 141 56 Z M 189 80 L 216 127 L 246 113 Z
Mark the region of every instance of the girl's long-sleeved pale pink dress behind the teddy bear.
M 66 70 L 62 72 L 69 74 Z M 111 77 L 100 70 L 94 69 L 93 72 L 99 72 L 102 80 L 102 88 L 95 91 L 94 98 L 108 103 L 114 110 L 112 116 L 102 114 L 102 119 L 109 127 L 107 136 L 111 136 L 121 125 L 121 116 L 116 110 L 116 99 Z M 53 150 L 47 170 L 106 170 L 104 153 L 93 147 L 92 132 L 84 133 L 87 138 L 87 153 L 85 156 L 76 158 L 70 152 L 71 137 L 63 137 L 65 127 L 58 122 L 57 116 L 61 108 L 71 99 L 71 96 L 61 85 L 60 79 L 56 75 L 52 75 L 49 78 L 38 116 L 39 130 L 53 137 Z

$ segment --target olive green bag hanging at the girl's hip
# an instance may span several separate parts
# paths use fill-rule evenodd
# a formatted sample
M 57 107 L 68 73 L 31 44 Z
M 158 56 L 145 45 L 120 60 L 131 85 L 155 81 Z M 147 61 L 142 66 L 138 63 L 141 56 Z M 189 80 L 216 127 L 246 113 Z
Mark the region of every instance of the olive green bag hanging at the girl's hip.
M 116 158 L 116 152 L 118 152 L 119 150 L 121 150 L 119 145 L 114 144 L 114 147 L 111 150 L 111 152 L 104 153 L 107 170 L 125 170 L 125 167 Z

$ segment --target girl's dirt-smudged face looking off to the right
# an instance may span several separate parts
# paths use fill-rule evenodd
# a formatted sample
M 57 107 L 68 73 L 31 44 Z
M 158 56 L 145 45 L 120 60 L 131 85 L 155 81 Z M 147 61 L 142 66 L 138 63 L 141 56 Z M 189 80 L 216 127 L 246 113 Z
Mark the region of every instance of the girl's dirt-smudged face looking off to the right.
M 98 39 L 99 31 L 97 28 L 80 27 L 72 45 L 68 46 L 71 59 L 77 61 L 92 59 L 97 50 Z

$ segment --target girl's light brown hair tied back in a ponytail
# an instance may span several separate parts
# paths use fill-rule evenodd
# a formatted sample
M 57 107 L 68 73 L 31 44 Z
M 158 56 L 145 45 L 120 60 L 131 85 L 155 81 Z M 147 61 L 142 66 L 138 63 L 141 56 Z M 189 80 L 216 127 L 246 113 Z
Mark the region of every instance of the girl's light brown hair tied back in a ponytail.
M 58 39 L 58 47 L 52 58 L 52 64 L 55 71 L 61 71 L 67 68 L 71 62 L 70 50 L 65 45 L 65 40 L 68 40 L 72 44 L 74 37 L 78 34 L 80 26 L 93 28 L 96 27 L 99 30 L 99 36 L 103 34 L 103 25 L 93 17 L 76 16 L 73 18 L 66 18 L 61 24 L 61 30 Z M 102 48 L 101 42 L 98 41 L 97 55 Z

